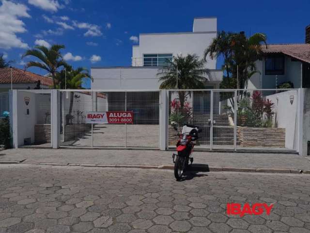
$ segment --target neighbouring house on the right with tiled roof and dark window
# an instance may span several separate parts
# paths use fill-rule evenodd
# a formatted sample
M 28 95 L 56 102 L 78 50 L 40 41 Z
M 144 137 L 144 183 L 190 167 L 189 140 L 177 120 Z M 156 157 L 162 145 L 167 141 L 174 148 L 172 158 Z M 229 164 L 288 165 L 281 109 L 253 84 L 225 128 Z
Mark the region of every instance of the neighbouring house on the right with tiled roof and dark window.
M 294 88 L 310 87 L 310 26 L 305 44 L 270 44 L 263 46 L 263 59 L 256 62 L 260 71 L 248 81 L 248 89 L 276 88 L 291 82 Z

